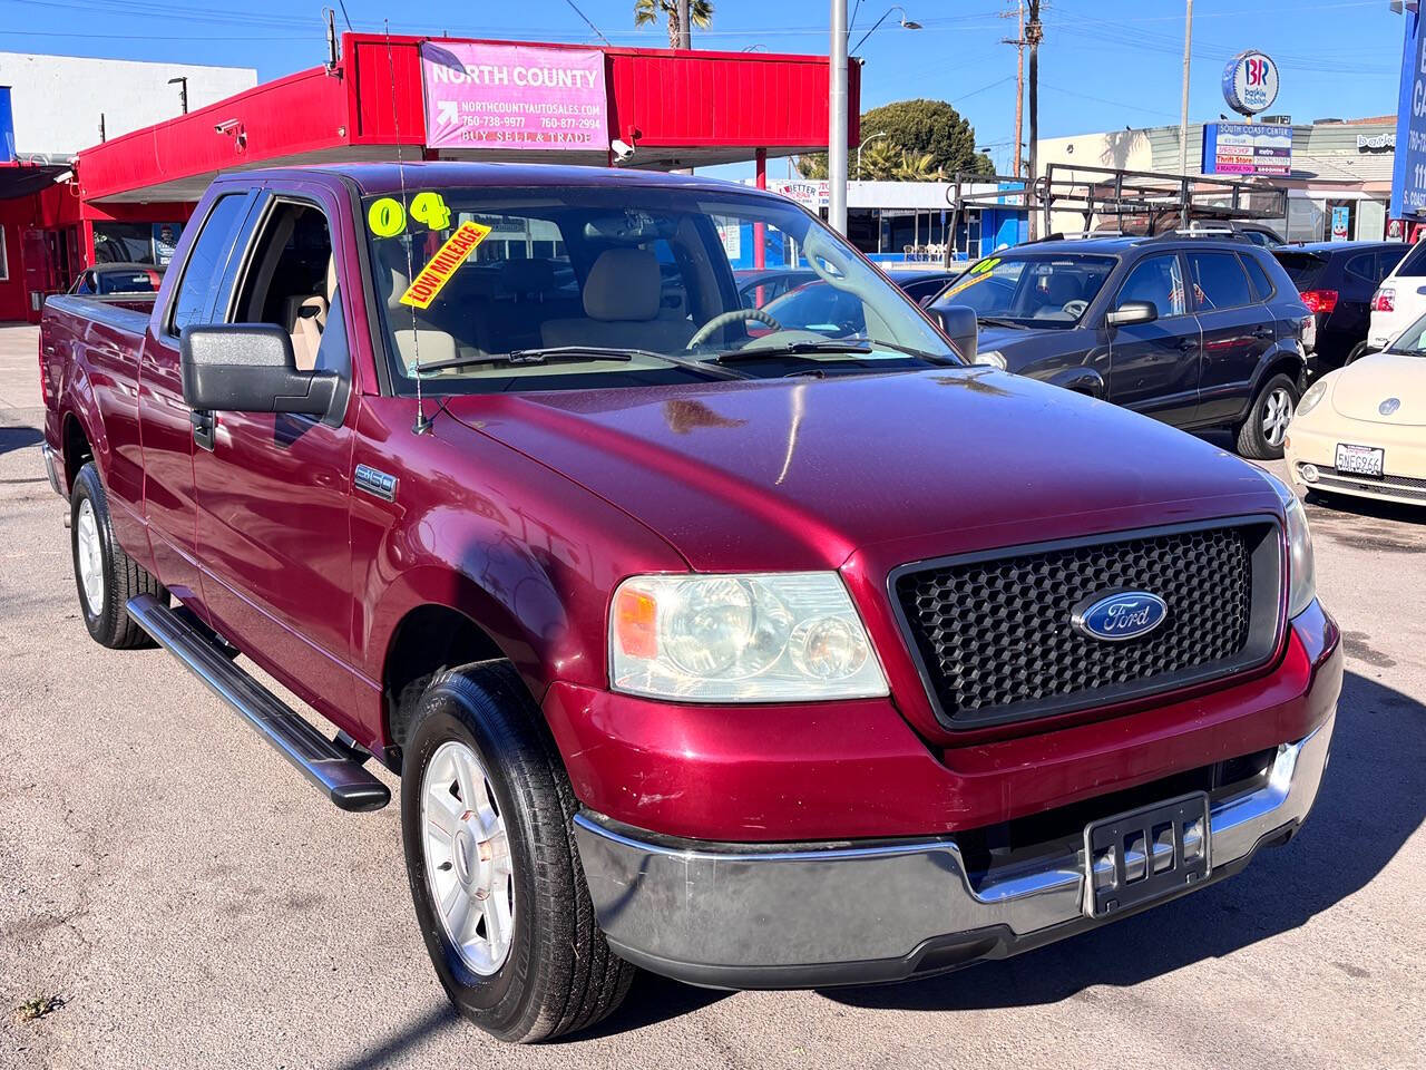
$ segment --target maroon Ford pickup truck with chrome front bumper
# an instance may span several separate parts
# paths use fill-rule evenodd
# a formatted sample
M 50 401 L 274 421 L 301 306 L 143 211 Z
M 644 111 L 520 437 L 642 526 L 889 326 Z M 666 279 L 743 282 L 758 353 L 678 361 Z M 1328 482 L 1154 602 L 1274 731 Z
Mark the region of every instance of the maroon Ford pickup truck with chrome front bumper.
M 858 324 L 744 308 L 756 244 Z M 723 183 L 222 175 L 151 312 L 46 305 L 84 622 L 341 807 L 398 773 L 435 969 L 508 1040 L 636 966 L 921 977 L 1236 873 L 1332 738 L 1302 508 L 934 315 Z

